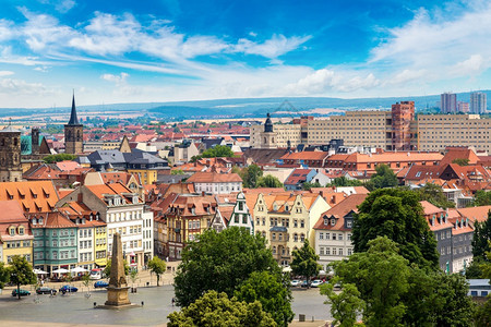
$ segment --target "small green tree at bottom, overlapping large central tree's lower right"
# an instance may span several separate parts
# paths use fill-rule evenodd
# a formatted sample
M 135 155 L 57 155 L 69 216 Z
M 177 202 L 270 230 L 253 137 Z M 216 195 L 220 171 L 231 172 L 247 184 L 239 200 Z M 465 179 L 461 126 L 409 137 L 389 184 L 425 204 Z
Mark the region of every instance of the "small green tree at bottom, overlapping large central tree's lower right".
M 235 296 L 247 303 L 261 302 L 263 310 L 271 314 L 278 326 L 287 327 L 295 314 L 290 304 L 291 291 L 285 283 L 289 283 L 288 277 L 254 271 L 235 292 Z

